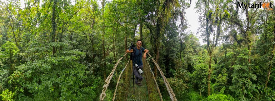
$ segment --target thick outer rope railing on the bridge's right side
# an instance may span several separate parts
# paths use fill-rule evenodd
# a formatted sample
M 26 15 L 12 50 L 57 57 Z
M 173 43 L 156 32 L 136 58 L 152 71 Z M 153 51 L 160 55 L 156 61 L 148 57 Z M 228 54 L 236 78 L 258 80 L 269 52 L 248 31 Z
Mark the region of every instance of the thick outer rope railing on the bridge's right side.
M 169 85 L 168 80 L 166 79 L 166 77 L 164 76 L 164 73 L 161 71 L 160 67 L 158 66 L 158 63 L 154 60 L 154 58 L 149 53 L 147 53 L 147 54 L 151 57 L 151 59 L 153 60 L 154 64 L 156 65 L 158 71 L 160 72 L 160 75 L 162 76 L 162 78 L 164 80 L 164 84 L 165 84 L 165 86 L 167 88 L 168 94 L 170 95 L 170 99 L 172 101 L 178 101 L 177 98 L 176 98 L 176 95 L 173 92 L 173 89 Z

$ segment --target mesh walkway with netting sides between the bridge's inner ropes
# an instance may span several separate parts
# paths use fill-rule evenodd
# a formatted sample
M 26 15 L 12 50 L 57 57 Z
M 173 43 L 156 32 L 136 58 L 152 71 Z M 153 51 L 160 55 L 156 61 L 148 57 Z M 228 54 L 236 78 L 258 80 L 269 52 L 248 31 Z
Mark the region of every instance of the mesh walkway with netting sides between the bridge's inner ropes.
M 133 64 L 130 60 L 121 75 L 117 85 L 117 92 L 114 93 L 114 101 L 162 101 L 158 85 L 150 72 L 151 68 L 148 61 L 143 59 L 143 80 L 142 86 L 135 84 L 135 94 L 133 91 Z

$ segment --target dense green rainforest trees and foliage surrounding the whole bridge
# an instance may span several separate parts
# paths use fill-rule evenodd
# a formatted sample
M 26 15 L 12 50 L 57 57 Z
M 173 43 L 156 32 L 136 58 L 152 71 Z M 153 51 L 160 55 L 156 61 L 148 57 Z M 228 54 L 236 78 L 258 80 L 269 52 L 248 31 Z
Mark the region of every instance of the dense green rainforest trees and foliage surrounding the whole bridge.
M 125 45 L 141 36 L 178 100 L 275 100 L 274 11 L 198 0 L 197 34 L 208 43 L 200 45 L 187 29 L 193 27 L 186 19 L 190 0 L 104 1 L 56 0 L 55 11 L 53 0 L 25 0 L 24 8 L 18 0 L 0 1 L 0 100 L 99 100 Z M 118 75 L 105 100 L 112 99 Z M 208 75 L 212 95 L 204 99 Z

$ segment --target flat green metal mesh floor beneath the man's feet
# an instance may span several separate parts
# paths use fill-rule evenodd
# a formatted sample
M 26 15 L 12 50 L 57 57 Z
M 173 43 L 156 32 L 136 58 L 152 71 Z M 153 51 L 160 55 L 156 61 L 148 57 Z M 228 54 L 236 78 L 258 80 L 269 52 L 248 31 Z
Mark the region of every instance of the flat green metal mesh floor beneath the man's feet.
M 144 73 L 143 73 L 144 74 Z M 142 74 L 142 76 L 143 76 Z M 143 76 L 144 77 L 144 76 Z M 128 101 L 149 101 L 148 90 L 146 85 L 146 80 L 143 78 L 142 86 L 138 86 L 135 84 L 135 93 L 133 89 L 133 75 L 130 80 L 130 86 L 128 90 Z

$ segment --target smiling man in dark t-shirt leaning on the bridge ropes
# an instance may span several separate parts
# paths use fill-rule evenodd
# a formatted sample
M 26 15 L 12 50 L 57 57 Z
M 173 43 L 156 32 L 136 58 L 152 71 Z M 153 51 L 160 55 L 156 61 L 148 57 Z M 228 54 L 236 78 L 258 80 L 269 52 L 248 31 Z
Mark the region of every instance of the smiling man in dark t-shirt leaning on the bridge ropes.
M 126 52 L 127 53 L 134 53 L 133 56 L 133 66 L 135 64 L 138 64 L 138 67 L 140 67 L 141 70 L 143 70 L 143 63 L 142 63 L 142 53 L 144 52 L 143 58 L 146 58 L 146 53 L 149 52 L 149 50 L 141 47 L 142 41 L 138 40 L 137 41 L 137 47 L 135 47 L 134 49 L 127 49 Z M 135 75 L 135 84 L 137 84 L 138 86 L 141 86 L 141 81 L 143 80 L 143 77 L 139 74 L 139 72 L 137 71 L 136 68 L 133 68 L 134 71 L 134 75 Z

